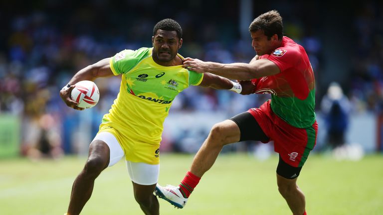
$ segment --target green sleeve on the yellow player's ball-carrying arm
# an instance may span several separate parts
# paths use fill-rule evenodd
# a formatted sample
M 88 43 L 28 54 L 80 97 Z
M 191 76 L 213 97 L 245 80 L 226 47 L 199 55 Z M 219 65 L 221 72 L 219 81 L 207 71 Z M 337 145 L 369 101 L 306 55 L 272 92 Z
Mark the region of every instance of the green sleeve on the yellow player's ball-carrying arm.
M 148 56 L 150 48 L 125 49 L 110 58 L 110 68 L 114 75 L 129 72 L 138 62 Z

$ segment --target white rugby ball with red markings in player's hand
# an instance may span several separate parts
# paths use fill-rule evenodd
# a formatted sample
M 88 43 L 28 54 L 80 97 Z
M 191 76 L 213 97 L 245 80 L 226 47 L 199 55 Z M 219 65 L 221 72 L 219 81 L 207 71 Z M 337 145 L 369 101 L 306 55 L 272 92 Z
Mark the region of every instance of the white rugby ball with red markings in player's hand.
M 79 108 L 92 108 L 100 99 L 100 92 L 92 81 L 79 81 L 71 92 L 72 100 L 78 103 Z

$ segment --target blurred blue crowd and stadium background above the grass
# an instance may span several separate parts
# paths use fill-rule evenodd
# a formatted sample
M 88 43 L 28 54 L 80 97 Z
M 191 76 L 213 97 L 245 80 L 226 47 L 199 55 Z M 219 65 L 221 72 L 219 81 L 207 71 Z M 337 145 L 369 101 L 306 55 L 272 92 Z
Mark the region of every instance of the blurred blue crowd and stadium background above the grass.
M 284 34 L 305 47 L 315 72 L 320 127 L 314 152 L 382 153 L 382 1 L 12 0 L 0 3 L 0 158 L 86 155 L 121 78 L 96 80 L 100 102 L 84 111 L 66 107 L 59 90 L 87 65 L 123 49 L 151 47 L 159 20 L 181 24 L 184 57 L 249 62 L 255 52 L 248 26 L 271 9 L 281 13 Z M 268 98 L 191 87 L 174 101 L 161 150 L 194 153 L 214 123 Z M 272 150 L 257 142 L 224 148 L 259 158 Z

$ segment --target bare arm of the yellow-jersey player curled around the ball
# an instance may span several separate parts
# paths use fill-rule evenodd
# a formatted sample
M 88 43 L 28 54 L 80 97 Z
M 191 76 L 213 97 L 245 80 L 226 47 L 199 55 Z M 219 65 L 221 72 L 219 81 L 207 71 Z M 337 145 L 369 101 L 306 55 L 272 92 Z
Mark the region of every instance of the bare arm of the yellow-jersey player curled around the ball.
M 78 71 L 73 76 L 73 78 L 69 81 L 68 85 L 61 89 L 60 97 L 68 107 L 78 109 L 78 110 L 84 109 L 84 108 L 78 108 L 77 107 L 78 104 L 75 101 L 73 101 L 70 97 L 70 94 L 73 88 L 75 87 L 74 84 L 76 84 L 79 81 L 84 81 L 84 80 L 93 81 L 99 77 L 113 76 L 113 72 L 109 66 L 109 60 L 110 58 L 105 58 L 95 64 L 89 65 L 85 67 L 84 69 Z

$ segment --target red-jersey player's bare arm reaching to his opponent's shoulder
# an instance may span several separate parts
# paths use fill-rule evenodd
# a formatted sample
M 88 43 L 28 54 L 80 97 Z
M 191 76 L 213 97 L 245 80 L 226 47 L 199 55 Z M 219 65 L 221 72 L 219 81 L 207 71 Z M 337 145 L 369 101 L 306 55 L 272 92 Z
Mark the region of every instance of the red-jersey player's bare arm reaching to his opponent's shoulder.
M 212 73 L 228 79 L 251 80 L 280 73 L 279 67 L 267 59 L 255 59 L 250 63 L 221 64 L 185 58 L 184 67 L 198 73 Z

